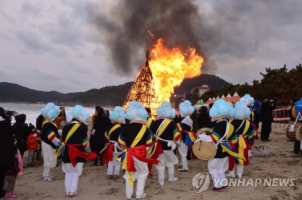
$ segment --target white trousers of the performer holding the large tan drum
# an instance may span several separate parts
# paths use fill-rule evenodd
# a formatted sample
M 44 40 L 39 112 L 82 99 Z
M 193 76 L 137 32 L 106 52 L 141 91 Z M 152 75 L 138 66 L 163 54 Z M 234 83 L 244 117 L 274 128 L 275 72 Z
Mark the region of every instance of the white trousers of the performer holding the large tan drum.
M 220 180 L 226 180 L 226 170 L 229 168 L 229 157 L 225 158 L 212 158 L 208 161 L 208 170 L 211 174 L 214 187 L 220 188 L 226 186 L 226 181 L 221 182 Z M 223 184 L 221 184 L 223 183 Z

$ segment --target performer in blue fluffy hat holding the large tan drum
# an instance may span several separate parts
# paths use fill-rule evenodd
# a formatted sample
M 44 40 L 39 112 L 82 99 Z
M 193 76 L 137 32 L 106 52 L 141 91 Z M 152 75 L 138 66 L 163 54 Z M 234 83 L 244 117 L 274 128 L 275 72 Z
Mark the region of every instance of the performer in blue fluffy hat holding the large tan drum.
M 229 168 L 229 156 L 234 158 L 243 156 L 237 154 L 234 144 L 237 143 L 237 135 L 233 132 L 234 127 L 228 122 L 231 119 L 233 105 L 225 102 L 223 99 L 217 100 L 210 110 L 212 121 L 217 120 L 211 135 L 200 134 L 199 139 L 202 142 L 214 142 L 217 153 L 214 158 L 208 161 L 208 170 L 213 179 L 214 187 L 211 189 L 216 192 L 222 192 L 228 189 L 227 183 L 221 181 L 226 178 L 225 172 Z M 198 140 L 196 140 L 198 141 Z

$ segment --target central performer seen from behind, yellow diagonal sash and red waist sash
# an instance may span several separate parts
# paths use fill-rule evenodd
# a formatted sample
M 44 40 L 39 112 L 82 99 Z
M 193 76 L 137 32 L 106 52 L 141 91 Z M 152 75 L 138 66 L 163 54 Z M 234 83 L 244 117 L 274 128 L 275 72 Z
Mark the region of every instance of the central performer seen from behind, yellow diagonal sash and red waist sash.
M 158 160 L 146 157 L 147 150 L 152 145 L 150 131 L 145 125 L 147 111 L 136 101 L 130 102 L 126 111 L 126 118 L 130 124 L 125 126 L 119 136 L 118 142 L 125 146 L 124 151 L 118 155 L 117 160 L 122 163 L 125 170 L 126 198 L 131 199 L 133 194 L 133 181 L 137 179 L 136 198 L 146 197 L 144 193 L 145 181 L 149 173 L 148 163 L 158 164 Z

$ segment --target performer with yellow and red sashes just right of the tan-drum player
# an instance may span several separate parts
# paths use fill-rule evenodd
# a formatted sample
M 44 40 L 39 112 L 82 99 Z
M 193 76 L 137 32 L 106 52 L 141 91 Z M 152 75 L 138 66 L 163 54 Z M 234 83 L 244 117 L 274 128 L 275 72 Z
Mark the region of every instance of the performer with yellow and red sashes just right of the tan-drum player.
M 235 145 L 235 150 L 240 155 L 244 156 L 244 159 L 239 158 L 238 161 L 230 158 L 229 160 L 229 173 L 226 176 L 235 177 L 234 163 L 236 164 L 237 176 L 242 177 L 244 165 L 249 165 L 248 150 L 249 139 L 252 139 L 256 135 L 256 131 L 253 125 L 249 121 L 251 110 L 246 106 L 244 102 L 237 102 L 233 108 L 233 120 L 231 124 L 234 126 L 234 132 L 238 138 L 238 144 Z

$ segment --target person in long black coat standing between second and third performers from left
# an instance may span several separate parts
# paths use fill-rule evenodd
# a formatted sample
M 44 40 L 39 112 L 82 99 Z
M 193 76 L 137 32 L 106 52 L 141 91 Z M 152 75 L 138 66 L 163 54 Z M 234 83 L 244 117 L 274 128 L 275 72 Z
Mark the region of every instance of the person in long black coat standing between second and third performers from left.
M 107 112 L 107 111 L 106 111 Z M 108 112 L 107 112 L 108 113 Z M 109 114 L 109 113 L 108 113 Z M 94 128 L 95 132 L 90 137 L 90 146 L 91 151 L 99 154 L 99 152 L 104 148 L 104 145 L 107 143 L 105 139 L 105 133 L 111 124 L 109 116 L 104 113 L 104 108 L 98 108 L 98 114 L 94 117 Z M 102 157 L 100 158 L 100 166 L 103 166 Z M 98 158 L 95 158 L 94 166 L 98 165 Z

